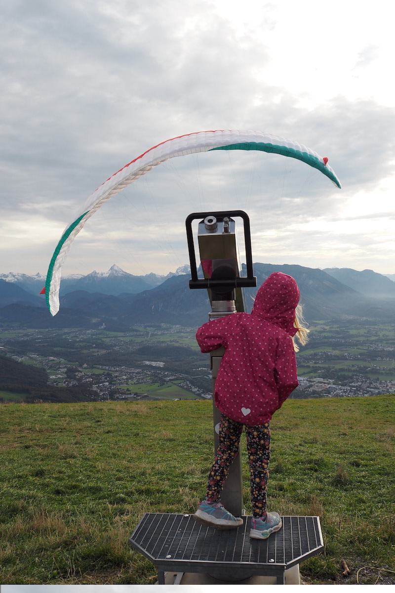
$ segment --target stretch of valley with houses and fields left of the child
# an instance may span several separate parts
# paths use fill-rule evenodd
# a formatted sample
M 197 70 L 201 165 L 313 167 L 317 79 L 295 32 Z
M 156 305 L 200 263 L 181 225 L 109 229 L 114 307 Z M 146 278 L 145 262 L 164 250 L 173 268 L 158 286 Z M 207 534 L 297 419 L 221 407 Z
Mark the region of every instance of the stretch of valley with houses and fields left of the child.
M 80 388 L 94 401 L 211 397 L 208 357 L 195 329 L 179 326 L 0 332 L 0 353 L 45 369 L 56 386 Z M 1 385 L 1 384 L 0 384 Z M 18 393 L 23 393 L 23 384 Z M 0 397 L 14 394 L 0 388 Z

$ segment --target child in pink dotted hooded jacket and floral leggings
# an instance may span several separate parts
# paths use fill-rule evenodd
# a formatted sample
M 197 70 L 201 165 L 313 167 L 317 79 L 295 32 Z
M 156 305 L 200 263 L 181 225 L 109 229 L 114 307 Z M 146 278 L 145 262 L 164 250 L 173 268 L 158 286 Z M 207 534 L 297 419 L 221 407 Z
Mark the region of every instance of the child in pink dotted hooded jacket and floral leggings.
M 214 398 L 221 412 L 219 447 L 208 476 L 205 500 L 194 518 L 217 529 L 243 524 L 220 503 L 227 471 L 246 430 L 251 477 L 250 537 L 266 539 L 282 527 L 278 513 L 266 512 L 270 457 L 269 421 L 297 387 L 294 343 L 307 342 L 296 281 L 275 272 L 259 288 L 251 314 L 234 313 L 208 321 L 196 334 L 201 352 L 224 346 Z

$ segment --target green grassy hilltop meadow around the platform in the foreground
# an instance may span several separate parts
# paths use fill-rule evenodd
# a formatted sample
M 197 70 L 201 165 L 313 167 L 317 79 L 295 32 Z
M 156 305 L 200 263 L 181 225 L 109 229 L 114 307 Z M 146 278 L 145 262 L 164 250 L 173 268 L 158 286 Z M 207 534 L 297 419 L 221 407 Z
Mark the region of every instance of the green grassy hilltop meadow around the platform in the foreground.
M 210 401 L 0 406 L 0 582 L 153 584 L 127 545 L 144 512 L 192 512 L 213 459 Z M 319 515 L 313 584 L 395 570 L 394 396 L 288 400 L 272 420 L 269 510 Z M 251 512 L 243 451 L 245 508 Z M 381 575 L 393 579 L 390 572 Z M 361 581 L 362 579 L 362 581 Z M 387 581 L 395 583 L 395 580 Z

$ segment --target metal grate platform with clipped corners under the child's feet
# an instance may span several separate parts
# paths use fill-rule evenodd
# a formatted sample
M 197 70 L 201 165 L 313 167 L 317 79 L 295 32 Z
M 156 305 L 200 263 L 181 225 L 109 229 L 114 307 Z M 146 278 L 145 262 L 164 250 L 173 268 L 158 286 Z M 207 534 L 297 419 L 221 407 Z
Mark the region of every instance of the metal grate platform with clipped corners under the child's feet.
M 323 549 L 318 517 L 282 517 L 282 529 L 267 540 L 249 537 L 251 519 L 243 517 L 242 527 L 220 531 L 197 524 L 192 515 L 146 513 L 129 544 L 158 566 L 159 582 L 172 570 L 279 579 L 285 569 Z

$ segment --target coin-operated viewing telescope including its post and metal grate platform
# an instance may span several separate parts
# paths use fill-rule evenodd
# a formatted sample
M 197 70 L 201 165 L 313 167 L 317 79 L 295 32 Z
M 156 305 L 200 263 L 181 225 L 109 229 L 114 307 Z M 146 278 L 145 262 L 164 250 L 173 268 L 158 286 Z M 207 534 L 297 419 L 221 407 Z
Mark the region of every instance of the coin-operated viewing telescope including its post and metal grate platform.
M 233 218 L 238 217 L 244 224 L 247 276 L 240 274 L 237 257 Z M 198 219 L 197 243 L 203 278 L 198 278 L 192 234 L 192 221 Z M 243 288 L 256 286 L 248 216 L 240 210 L 199 212 L 190 214 L 186 224 L 190 288 L 207 289 L 211 301 L 210 320 L 242 313 L 245 309 Z M 213 390 L 223 353 L 223 348 L 210 353 Z M 215 403 L 213 417 L 217 449 L 220 412 Z M 221 495 L 224 507 L 236 517 L 245 515 L 242 492 L 241 462 L 237 455 Z M 130 536 L 129 544 L 158 566 L 160 585 L 213 584 L 216 579 L 217 582 L 251 579 L 248 584 L 272 584 L 273 579 L 278 585 L 299 585 L 298 563 L 323 550 L 319 517 L 282 517 L 282 529 L 261 542 L 248 537 L 251 519 L 244 517 L 243 527 L 238 529 L 220 531 L 202 527 L 188 513 L 145 513 Z M 201 574 L 195 578 L 195 573 Z M 252 582 L 255 578 L 264 580 Z

